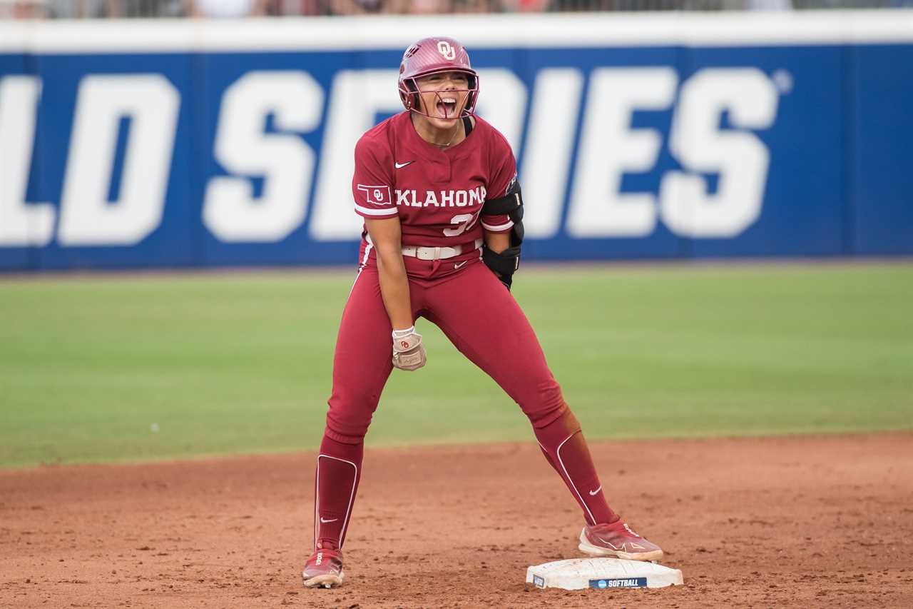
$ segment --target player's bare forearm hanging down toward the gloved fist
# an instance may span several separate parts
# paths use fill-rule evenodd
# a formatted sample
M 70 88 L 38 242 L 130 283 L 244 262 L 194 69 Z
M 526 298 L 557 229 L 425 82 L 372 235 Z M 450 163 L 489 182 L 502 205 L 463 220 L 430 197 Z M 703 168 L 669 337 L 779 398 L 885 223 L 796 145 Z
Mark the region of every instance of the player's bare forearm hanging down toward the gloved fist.
M 403 262 L 402 231 L 399 219 L 368 219 L 368 233 L 377 252 L 377 272 L 381 283 L 383 306 L 394 330 L 413 325 L 409 301 L 409 280 Z

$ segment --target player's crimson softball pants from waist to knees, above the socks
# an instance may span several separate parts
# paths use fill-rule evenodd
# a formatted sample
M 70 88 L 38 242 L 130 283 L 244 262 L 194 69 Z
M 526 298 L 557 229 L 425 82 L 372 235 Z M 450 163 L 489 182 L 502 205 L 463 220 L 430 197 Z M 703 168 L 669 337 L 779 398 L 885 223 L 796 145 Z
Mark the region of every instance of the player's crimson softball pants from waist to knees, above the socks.
M 413 318 L 440 327 L 470 361 L 488 373 L 538 425 L 561 415 L 561 389 L 517 301 L 485 264 L 470 262 L 452 278 L 424 287 L 409 283 Z M 391 364 L 390 319 L 376 267 L 365 267 L 342 313 L 333 358 L 327 434 L 351 443 L 368 431 Z M 435 354 L 428 358 L 434 361 Z M 427 373 L 423 370 L 409 374 Z M 404 374 L 400 372 L 400 374 Z

